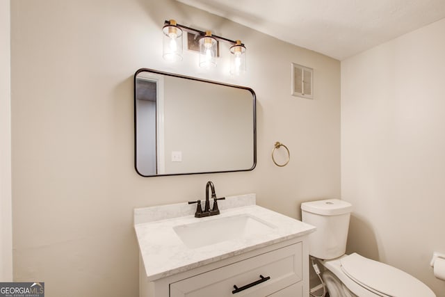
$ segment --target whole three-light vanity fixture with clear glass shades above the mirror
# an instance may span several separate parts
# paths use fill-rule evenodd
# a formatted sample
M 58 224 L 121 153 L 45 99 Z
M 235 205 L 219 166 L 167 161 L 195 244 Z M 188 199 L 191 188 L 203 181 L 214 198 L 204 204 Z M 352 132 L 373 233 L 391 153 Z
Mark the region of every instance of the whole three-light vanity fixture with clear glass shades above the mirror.
M 175 19 L 164 22 L 163 26 L 163 58 L 167 61 L 182 60 L 182 33 L 192 33 L 199 35 L 200 44 L 200 67 L 216 67 L 218 57 L 218 41 L 225 41 L 232 44 L 230 47 L 230 74 L 238 75 L 246 71 L 245 45 L 241 40 L 230 40 L 217 35 L 211 31 L 200 31 L 181 24 L 177 24 Z

